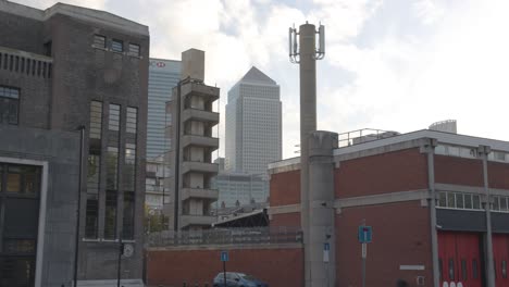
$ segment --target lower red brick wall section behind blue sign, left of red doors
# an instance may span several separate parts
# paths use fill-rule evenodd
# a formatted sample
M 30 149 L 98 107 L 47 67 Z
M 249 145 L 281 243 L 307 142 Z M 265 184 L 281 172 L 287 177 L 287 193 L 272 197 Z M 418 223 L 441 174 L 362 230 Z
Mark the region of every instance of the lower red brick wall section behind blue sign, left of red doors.
M 425 276 L 431 286 L 432 251 L 429 209 L 420 201 L 344 209 L 336 215 L 337 286 L 361 286 L 361 245 L 357 228 L 365 219 L 373 227 L 368 244 L 365 286 L 396 286 L 399 278 L 415 285 Z M 424 271 L 400 271 L 399 265 L 424 265 Z

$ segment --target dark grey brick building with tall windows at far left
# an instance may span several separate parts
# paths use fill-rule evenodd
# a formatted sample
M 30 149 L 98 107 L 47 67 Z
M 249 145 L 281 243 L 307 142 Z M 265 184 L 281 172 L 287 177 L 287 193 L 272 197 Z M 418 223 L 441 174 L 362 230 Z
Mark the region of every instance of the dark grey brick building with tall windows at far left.
M 116 286 L 121 242 L 142 286 L 148 65 L 147 26 L 0 1 L 0 286 L 73 286 L 76 226 L 78 286 Z

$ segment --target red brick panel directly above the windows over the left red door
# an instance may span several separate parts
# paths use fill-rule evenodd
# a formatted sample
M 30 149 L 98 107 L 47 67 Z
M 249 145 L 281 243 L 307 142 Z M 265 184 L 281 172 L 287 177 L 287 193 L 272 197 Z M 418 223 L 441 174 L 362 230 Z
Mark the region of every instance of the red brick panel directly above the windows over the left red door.
M 483 162 L 458 157 L 435 155 L 437 184 L 484 186 Z

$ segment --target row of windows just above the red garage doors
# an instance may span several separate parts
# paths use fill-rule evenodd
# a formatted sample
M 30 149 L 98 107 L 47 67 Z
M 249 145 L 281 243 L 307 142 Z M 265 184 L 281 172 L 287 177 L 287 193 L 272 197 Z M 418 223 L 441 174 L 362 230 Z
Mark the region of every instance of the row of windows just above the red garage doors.
M 492 211 L 509 212 L 509 197 L 492 196 Z M 439 191 L 437 208 L 482 210 L 481 196 L 465 192 Z

